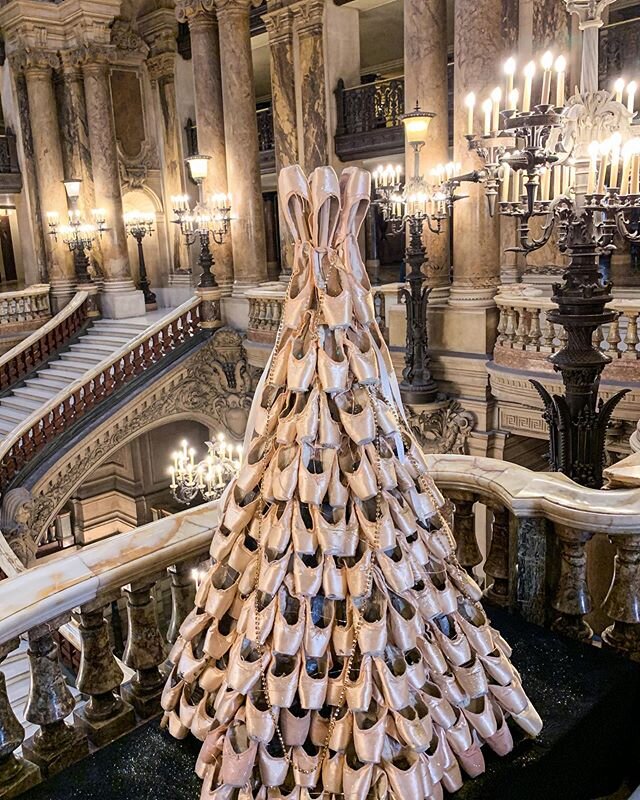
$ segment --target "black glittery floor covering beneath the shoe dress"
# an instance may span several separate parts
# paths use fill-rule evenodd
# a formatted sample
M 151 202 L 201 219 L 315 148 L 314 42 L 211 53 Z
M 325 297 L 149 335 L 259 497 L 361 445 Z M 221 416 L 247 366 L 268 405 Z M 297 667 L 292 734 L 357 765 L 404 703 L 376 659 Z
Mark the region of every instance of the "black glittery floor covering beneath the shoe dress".
M 594 800 L 623 778 L 640 782 L 640 673 L 636 664 L 576 644 L 496 609 L 490 616 L 545 727 L 487 771 L 457 800 Z M 200 743 L 176 742 L 153 720 L 22 797 L 25 800 L 197 800 Z M 485 750 L 487 748 L 484 748 Z

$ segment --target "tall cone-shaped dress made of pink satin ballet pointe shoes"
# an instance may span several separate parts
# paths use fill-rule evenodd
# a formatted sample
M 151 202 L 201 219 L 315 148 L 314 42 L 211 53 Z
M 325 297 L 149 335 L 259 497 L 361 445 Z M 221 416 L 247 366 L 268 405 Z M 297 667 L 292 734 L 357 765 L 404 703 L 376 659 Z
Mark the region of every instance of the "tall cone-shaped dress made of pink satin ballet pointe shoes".
M 282 324 L 163 695 L 203 798 L 439 798 L 535 735 L 406 424 L 357 245 L 369 174 L 280 173 Z

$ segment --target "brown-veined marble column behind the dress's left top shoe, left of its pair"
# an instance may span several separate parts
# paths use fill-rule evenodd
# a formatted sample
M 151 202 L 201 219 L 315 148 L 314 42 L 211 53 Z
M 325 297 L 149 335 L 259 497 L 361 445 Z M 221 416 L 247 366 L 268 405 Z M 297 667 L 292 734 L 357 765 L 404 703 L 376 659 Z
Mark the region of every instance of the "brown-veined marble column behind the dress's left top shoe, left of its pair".
M 262 19 L 269 34 L 273 143 L 278 173 L 298 161 L 293 14 L 290 8 L 282 8 L 263 15 Z M 284 276 L 291 273 L 292 264 L 293 239 L 280 211 L 280 266 Z

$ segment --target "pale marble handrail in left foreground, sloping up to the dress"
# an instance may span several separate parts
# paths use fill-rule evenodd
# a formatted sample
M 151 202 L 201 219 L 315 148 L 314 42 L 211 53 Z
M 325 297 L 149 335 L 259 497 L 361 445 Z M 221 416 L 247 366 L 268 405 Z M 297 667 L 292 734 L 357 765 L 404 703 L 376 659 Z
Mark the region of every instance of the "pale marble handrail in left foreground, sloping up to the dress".
M 205 553 L 218 501 L 64 552 L 0 581 L 0 645 L 123 586 Z

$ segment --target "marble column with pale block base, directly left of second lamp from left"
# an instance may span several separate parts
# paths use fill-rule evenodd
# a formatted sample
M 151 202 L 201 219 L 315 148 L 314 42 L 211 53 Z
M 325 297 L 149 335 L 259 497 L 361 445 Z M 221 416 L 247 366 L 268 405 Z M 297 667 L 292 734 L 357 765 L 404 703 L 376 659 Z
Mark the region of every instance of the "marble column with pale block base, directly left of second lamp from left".
M 96 206 L 105 211 L 107 230 L 101 247 L 104 271 L 102 313 L 106 317 L 131 317 L 145 313 L 144 296 L 131 276 L 124 227 L 118 149 L 109 85 L 111 53 L 98 46 L 82 51 L 82 75 Z

